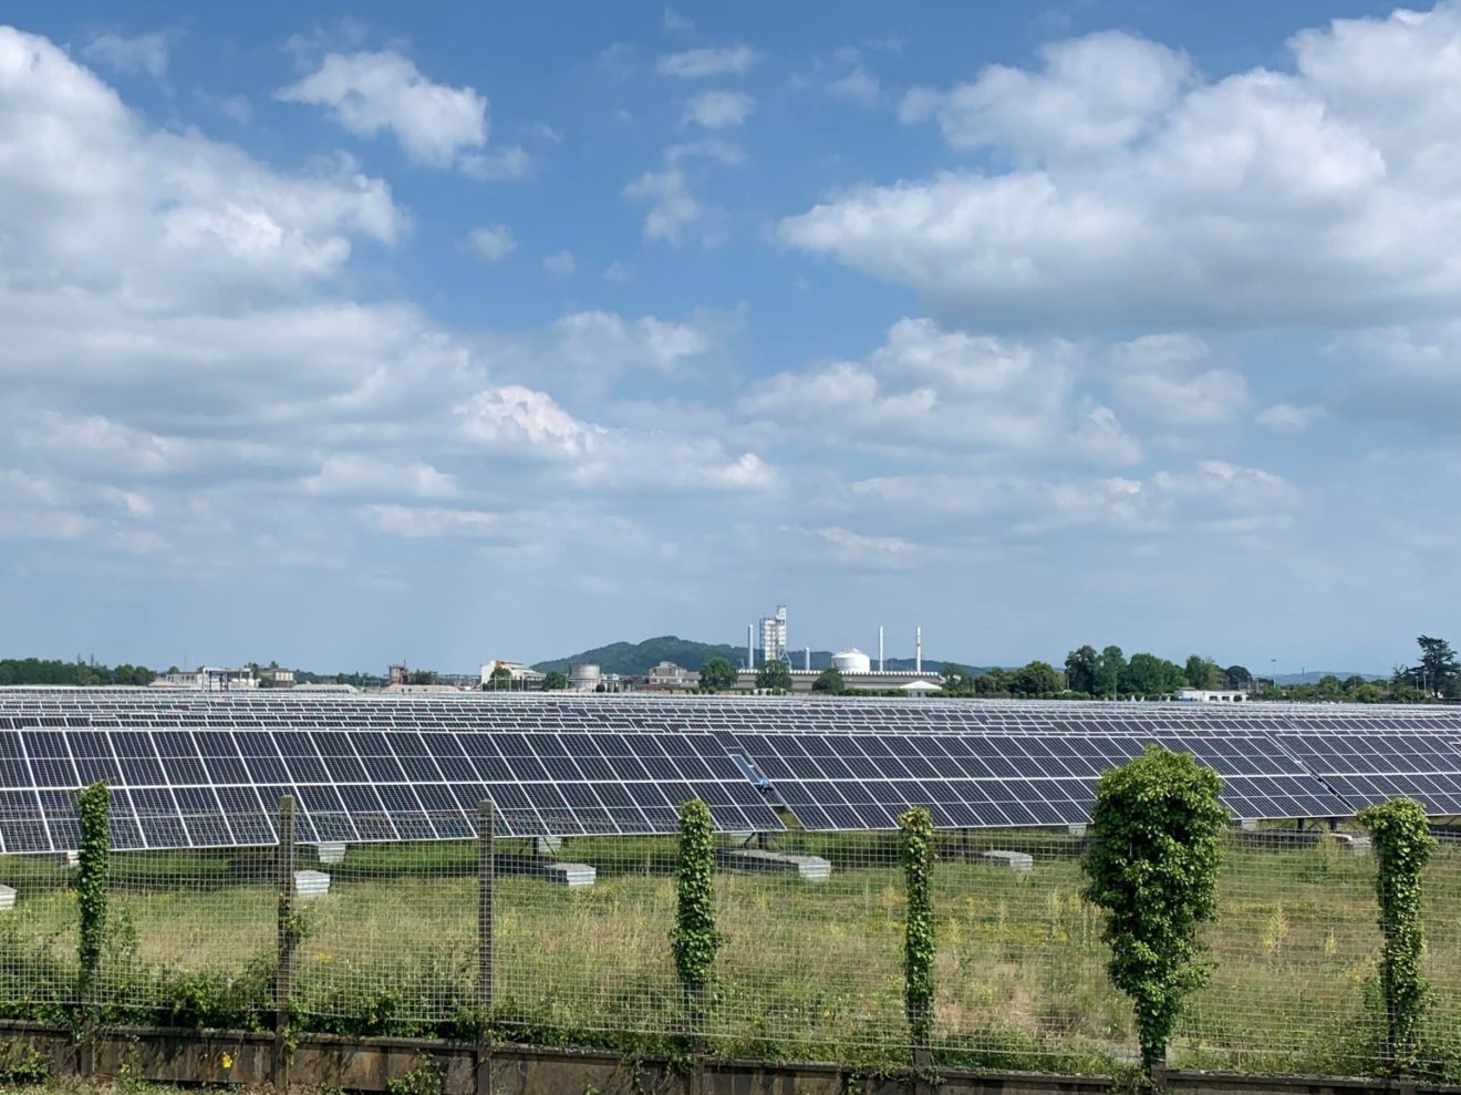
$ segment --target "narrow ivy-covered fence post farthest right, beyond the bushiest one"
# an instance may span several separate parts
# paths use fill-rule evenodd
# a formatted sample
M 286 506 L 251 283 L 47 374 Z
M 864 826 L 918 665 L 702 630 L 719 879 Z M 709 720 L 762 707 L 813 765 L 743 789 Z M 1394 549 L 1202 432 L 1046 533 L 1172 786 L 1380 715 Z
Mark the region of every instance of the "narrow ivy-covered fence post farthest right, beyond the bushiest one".
M 1436 841 L 1426 822 L 1426 808 L 1413 798 L 1391 798 L 1367 807 L 1357 820 L 1369 829 L 1378 861 L 1375 898 L 1379 930 L 1385 937 L 1379 962 L 1385 1050 L 1391 1066 L 1400 1072 L 1416 1063 L 1420 1018 L 1429 993 L 1429 984 L 1420 975 L 1420 956 L 1426 947 L 1420 876 Z

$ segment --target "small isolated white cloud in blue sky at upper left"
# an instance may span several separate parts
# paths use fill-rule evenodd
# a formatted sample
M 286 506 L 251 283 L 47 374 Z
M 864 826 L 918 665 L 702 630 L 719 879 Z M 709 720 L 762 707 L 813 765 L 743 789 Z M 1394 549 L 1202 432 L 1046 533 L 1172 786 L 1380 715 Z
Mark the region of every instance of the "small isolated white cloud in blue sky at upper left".
M 276 98 L 324 107 L 362 137 L 394 134 L 418 164 L 450 167 L 462 149 L 487 143 L 487 99 L 473 88 L 432 83 L 393 51 L 332 53 L 320 67 Z

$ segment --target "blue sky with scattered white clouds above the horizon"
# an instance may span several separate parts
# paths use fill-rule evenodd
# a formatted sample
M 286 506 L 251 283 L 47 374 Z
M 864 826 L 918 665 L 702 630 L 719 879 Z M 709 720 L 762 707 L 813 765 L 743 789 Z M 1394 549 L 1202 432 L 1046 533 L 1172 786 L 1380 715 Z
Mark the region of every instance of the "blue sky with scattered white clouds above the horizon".
M 1458 6 L 4 19 L 6 655 L 1455 637 Z

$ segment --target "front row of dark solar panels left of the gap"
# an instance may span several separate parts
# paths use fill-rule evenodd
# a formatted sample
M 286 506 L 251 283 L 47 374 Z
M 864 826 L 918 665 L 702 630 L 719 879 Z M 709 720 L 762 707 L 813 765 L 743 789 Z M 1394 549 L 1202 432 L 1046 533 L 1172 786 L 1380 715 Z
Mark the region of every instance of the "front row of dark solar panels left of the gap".
M 507 836 L 669 833 L 690 798 L 717 829 L 782 827 L 709 737 L 28 730 L 0 734 L 0 851 L 73 848 L 75 791 L 107 781 L 118 848 L 470 836 L 491 797 Z

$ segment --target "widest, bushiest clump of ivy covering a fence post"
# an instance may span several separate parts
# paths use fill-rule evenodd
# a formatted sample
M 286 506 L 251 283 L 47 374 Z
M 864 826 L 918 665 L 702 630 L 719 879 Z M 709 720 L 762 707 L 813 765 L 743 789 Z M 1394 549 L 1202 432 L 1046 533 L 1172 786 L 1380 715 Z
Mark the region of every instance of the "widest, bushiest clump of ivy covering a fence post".
M 1086 899 L 1109 914 L 1106 969 L 1135 1004 L 1148 1076 L 1166 1060 L 1185 997 L 1211 971 L 1198 928 L 1217 917 L 1229 820 L 1221 789 L 1216 772 L 1157 746 L 1107 770 L 1096 787 Z

